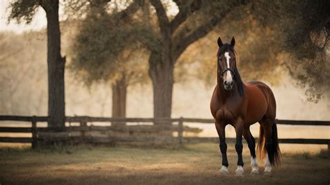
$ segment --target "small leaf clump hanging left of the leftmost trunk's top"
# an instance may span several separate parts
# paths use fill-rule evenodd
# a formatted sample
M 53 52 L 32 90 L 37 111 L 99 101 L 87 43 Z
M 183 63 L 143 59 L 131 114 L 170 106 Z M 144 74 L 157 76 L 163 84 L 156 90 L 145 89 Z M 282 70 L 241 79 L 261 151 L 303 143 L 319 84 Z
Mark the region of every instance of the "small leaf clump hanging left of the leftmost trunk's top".
M 21 23 L 22 20 L 29 24 L 33 15 L 35 15 L 37 8 L 40 6 L 40 0 L 15 0 L 10 1 L 8 8 L 11 9 L 8 17 L 8 22 L 11 19 L 15 19 L 17 23 Z

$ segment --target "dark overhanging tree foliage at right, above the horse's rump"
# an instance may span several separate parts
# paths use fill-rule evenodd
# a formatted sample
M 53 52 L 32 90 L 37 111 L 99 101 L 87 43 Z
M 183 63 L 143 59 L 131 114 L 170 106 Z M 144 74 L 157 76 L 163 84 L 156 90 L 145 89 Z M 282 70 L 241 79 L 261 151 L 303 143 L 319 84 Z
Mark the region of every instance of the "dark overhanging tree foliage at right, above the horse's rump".
M 283 1 L 279 7 L 282 48 L 291 56 L 288 70 L 306 88 L 308 100 L 318 102 L 322 94 L 330 96 L 330 2 Z

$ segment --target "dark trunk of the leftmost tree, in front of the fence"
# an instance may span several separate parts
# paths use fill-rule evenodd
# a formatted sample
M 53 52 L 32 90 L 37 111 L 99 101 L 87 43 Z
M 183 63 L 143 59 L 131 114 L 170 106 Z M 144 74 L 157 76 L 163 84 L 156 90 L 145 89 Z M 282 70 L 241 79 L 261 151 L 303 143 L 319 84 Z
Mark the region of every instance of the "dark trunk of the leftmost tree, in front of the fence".
M 58 21 L 58 0 L 43 0 L 47 16 L 47 66 L 49 127 L 65 126 L 65 57 L 61 56 L 61 32 Z

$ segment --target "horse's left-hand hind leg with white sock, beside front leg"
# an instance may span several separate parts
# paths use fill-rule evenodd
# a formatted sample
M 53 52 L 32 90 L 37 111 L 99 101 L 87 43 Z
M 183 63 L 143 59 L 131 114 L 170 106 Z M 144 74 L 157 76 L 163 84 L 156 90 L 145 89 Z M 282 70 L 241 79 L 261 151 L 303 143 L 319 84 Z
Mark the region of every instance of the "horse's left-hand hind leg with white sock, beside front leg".
M 256 140 L 253 138 L 250 128 L 244 128 L 243 136 L 248 143 L 250 154 L 251 154 L 251 175 L 259 173 L 258 162 L 256 159 Z

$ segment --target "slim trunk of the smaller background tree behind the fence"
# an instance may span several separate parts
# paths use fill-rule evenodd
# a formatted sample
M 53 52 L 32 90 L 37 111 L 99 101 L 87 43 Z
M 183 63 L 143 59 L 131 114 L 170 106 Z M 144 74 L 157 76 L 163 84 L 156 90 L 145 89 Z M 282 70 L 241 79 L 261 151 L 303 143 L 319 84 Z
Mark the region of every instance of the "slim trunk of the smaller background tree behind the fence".
M 127 84 L 125 76 L 112 84 L 112 117 L 126 117 Z M 113 122 L 112 124 L 116 124 Z

